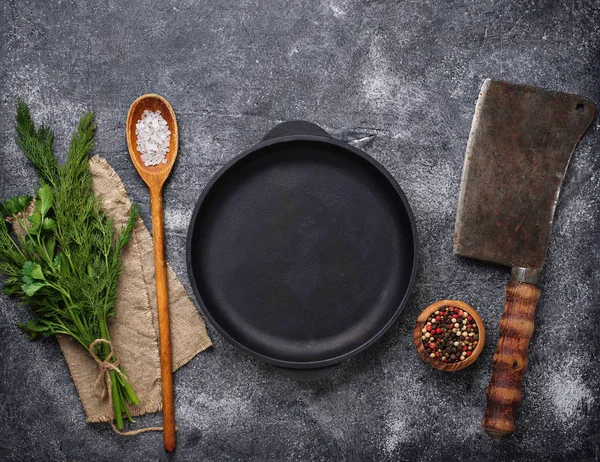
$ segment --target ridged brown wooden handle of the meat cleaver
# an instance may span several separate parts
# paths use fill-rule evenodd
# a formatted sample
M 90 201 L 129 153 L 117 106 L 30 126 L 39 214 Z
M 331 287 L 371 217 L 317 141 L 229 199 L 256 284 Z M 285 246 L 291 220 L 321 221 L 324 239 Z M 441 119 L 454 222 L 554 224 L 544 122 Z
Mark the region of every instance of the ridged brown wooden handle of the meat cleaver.
M 540 288 L 533 284 L 510 281 L 506 286 L 500 338 L 494 353 L 492 379 L 486 391 L 485 414 L 481 420 L 483 429 L 495 440 L 515 431 L 529 340 L 533 334 L 533 317 L 539 299 Z

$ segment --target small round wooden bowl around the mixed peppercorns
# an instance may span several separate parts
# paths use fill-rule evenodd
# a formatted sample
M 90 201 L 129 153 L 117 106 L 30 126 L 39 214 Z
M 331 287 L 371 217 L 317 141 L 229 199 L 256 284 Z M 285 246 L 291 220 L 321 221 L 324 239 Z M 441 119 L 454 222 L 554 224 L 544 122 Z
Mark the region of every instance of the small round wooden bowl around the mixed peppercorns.
M 475 347 L 471 356 L 469 356 L 464 361 L 458 363 L 442 363 L 435 358 L 431 358 L 425 351 L 425 347 L 423 346 L 423 340 L 421 339 L 421 336 L 423 335 L 421 331 L 423 327 L 425 327 L 427 319 L 429 318 L 429 316 L 431 316 L 431 313 L 445 308 L 447 306 L 454 306 L 469 313 L 471 316 L 473 316 L 473 320 L 475 321 L 475 323 L 477 324 L 477 328 L 479 329 L 479 343 L 477 344 L 477 347 Z M 485 344 L 485 327 L 483 325 L 483 320 L 481 319 L 481 316 L 479 316 L 477 310 L 475 310 L 475 308 L 473 308 L 471 305 L 459 302 L 458 300 L 440 300 L 439 302 L 435 302 L 429 305 L 427 308 L 425 308 L 425 310 L 423 310 L 423 312 L 417 318 L 417 323 L 415 324 L 414 341 L 419 356 L 431 367 L 440 371 L 456 372 L 460 371 L 461 369 L 464 369 L 465 367 L 470 366 L 479 357 L 479 354 L 483 350 L 483 345 Z

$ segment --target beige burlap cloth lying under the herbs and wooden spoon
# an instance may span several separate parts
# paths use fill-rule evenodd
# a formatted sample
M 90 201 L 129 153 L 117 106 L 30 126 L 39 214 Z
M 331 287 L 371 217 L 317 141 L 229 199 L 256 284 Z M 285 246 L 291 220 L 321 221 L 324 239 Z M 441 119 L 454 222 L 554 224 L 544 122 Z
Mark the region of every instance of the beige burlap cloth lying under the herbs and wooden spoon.
M 98 156 L 90 159 L 93 190 L 101 196 L 104 208 L 120 228 L 127 221 L 131 202 L 117 173 Z M 116 317 L 109 331 L 117 358 L 141 403 L 130 408 L 132 415 L 157 412 L 162 407 L 156 287 L 152 237 L 140 219 L 129 244 L 121 254 Z M 167 267 L 173 370 L 212 345 L 204 319 L 188 297 L 170 266 Z M 107 422 L 114 418 L 107 398 L 94 392 L 98 366 L 89 352 L 68 337 L 57 336 L 65 356 L 87 422 Z

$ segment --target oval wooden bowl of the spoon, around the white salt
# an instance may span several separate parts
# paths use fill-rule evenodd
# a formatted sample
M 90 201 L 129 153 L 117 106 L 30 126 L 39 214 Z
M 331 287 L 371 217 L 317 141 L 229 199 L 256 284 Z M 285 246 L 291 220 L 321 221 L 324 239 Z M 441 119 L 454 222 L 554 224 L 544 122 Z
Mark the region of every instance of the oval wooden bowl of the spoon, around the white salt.
M 171 139 L 169 151 L 167 152 L 167 163 L 158 165 L 144 165 L 142 153 L 137 149 L 137 135 L 135 133 L 136 124 L 142 118 L 144 111 L 160 111 L 160 115 L 167 122 Z M 162 186 L 175 164 L 177 150 L 179 148 L 179 133 L 177 130 L 177 120 L 175 113 L 169 102 L 160 95 L 149 93 L 136 99 L 127 113 L 127 147 L 129 155 L 136 170 L 148 185 L 148 187 Z

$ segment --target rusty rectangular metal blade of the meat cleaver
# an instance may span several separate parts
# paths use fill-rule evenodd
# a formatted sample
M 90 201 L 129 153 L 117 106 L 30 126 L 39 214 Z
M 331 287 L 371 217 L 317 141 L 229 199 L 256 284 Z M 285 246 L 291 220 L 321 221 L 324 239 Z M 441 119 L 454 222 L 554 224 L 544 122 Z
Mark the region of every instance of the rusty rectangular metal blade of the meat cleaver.
M 560 186 L 594 112 L 581 96 L 484 82 L 465 154 L 456 255 L 542 268 Z

